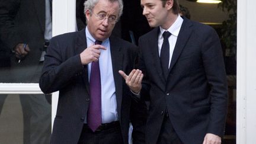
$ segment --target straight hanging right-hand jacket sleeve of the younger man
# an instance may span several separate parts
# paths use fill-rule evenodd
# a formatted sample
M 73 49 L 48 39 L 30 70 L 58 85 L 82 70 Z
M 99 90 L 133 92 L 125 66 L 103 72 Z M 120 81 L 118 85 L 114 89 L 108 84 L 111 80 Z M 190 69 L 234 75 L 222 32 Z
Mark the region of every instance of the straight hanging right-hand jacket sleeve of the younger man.
M 228 85 L 222 47 L 215 30 L 210 28 L 202 44 L 204 71 L 210 85 L 210 121 L 207 133 L 223 136 L 228 105 Z

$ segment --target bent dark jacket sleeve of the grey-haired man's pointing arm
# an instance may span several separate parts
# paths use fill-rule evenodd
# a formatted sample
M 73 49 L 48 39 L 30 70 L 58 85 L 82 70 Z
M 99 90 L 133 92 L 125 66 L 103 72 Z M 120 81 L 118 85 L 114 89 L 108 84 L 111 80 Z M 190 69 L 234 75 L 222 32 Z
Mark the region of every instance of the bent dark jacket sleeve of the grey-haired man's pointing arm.
M 84 66 L 81 63 L 80 55 L 66 57 L 67 50 L 73 47 L 64 41 L 70 37 L 53 37 L 44 56 L 44 66 L 39 80 L 41 91 L 50 94 L 70 85 L 72 79 L 81 76 Z

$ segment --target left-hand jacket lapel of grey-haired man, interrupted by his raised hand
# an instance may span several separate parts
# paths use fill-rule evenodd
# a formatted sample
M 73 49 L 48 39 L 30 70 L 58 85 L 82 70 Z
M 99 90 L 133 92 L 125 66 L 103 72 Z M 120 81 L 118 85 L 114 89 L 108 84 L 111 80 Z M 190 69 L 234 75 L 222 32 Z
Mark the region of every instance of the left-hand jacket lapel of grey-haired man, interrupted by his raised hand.
M 78 31 L 78 35 L 76 37 L 75 54 L 79 55 L 79 53 L 82 53 L 86 48 L 87 48 L 87 39 L 85 36 L 85 28 L 83 28 L 81 31 Z M 89 79 L 88 79 L 87 65 L 84 66 L 84 71 L 82 72 L 82 78 L 85 82 L 85 88 L 87 89 L 87 92 L 89 94 Z

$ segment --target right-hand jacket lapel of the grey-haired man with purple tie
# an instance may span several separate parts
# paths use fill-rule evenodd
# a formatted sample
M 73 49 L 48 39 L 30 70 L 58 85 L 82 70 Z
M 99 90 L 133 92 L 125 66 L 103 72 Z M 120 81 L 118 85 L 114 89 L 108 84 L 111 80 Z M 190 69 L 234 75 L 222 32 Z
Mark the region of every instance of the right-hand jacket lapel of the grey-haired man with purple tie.
M 123 69 L 123 53 L 121 53 L 119 41 L 110 37 L 110 52 L 113 67 L 114 83 L 116 87 L 117 111 L 121 114 L 121 101 L 123 97 L 123 78 L 119 74 L 119 70 Z

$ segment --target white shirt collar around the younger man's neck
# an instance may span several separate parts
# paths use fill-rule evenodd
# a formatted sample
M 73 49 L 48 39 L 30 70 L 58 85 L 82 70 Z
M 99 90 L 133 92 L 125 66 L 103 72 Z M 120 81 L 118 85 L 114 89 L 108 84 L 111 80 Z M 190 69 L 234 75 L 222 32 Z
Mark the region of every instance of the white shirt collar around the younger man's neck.
M 183 18 L 181 18 L 180 15 L 178 15 L 177 20 L 171 25 L 171 27 L 168 28 L 167 31 L 169 31 L 173 36 L 178 37 L 178 33 L 180 32 L 181 25 L 183 23 Z M 166 31 L 164 28 L 160 28 L 160 36 Z

